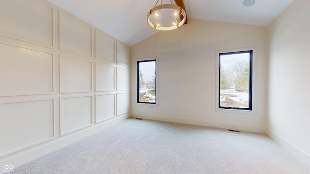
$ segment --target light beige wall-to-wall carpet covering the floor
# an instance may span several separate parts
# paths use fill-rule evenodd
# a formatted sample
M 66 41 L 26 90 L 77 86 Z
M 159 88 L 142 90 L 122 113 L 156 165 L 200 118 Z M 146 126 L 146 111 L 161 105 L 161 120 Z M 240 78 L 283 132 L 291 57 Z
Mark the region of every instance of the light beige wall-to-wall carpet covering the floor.
M 6 174 L 310 174 L 310 168 L 265 134 L 129 118 Z

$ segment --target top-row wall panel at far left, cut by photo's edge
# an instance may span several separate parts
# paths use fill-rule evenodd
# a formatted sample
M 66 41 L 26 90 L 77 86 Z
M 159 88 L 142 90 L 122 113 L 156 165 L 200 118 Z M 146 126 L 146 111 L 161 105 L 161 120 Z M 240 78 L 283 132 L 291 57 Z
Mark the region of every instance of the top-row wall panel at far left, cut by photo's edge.
M 53 46 L 53 8 L 39 0 L 0 0 L 0 34 Z

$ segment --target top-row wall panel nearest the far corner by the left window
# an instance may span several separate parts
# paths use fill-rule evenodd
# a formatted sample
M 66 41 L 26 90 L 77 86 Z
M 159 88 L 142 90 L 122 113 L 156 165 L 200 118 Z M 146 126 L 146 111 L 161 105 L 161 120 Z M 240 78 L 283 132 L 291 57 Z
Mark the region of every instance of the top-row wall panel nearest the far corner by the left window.
M 124 43 L 117 42 L 116 62 L 117 65 L 130 67 L 130 47 Z

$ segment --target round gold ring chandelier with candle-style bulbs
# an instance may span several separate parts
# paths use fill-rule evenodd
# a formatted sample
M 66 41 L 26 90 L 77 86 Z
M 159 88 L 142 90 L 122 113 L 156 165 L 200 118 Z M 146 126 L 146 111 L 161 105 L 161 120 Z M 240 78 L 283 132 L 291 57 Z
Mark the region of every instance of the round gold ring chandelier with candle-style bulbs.
M 185 10 L 177 5 L 177 3 L 170 0 L 170 4 L 163 4 L 161 0 L 160 5 L 156 2 L 154 8 L 147 14 L 148 24 L 153 29 L 171 30 L 181 27 L 186 20 Z

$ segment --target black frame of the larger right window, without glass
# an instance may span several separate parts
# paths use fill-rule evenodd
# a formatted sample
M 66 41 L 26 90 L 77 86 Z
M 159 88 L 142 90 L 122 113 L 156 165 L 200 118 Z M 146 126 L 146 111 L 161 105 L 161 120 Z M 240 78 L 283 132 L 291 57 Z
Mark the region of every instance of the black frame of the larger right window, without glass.
M 220 106 L 220 67 L 221 61 L 220 58 L 222 55 L 233 55 L 233 54 L 240 54 L 240 53 L 249 53 L 249 97 L 248 97 L 248 108 L 239 108 L 239 107 L 224 107 Z M 252 111 L 252 95 L 253 95 L 253 50 L 247 51 L 233 51 L 233 52 L 225 52 L 219 53 L 218 55 L 218 108 L 219 109 L 233 109 L 233 110 L 246 110 Z

